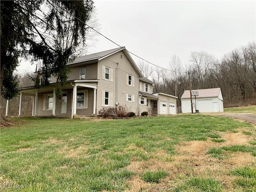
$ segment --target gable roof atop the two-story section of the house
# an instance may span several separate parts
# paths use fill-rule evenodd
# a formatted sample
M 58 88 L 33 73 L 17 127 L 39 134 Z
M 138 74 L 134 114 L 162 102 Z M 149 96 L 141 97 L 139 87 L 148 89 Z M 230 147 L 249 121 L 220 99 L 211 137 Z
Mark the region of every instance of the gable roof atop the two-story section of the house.
M 119 48 L 115 48 L 115 49 L 110 49 L 110 50 L 106 50 L 106 51 L 102 51 L 102 52 L 98 52 L 98 53 L 93 53 L 90 55 L 85 55 L 82 57 L 78 57 L 74 60 L 74 62 L 68 64 L 68 65 L 72 65 L 72 64 L 76 64 L 76 63 L 80 63 L 80 62 L 88 62 L 88 61 L 92 61 L 92 60 L 102 60 L 108 56 L 111 56 L 117 52 L 123 51 L 124 54 L 126 55 L 126 57 L 128 58 L 128 60 L 130 61 L 130 63 L 132 64 L 132 66 L 134 67 L 134 69 L 136 70 L 136 72 L 139 74 L 139 77 L 143 77 L 142 73 L 140 72 L 138 66 L 135 64 L 134 60 L 132 59 L 132 57 L 130 56 L 130 54 L 128 53 L 128 51 L 126 50 L 125 47 L 119 47 Z

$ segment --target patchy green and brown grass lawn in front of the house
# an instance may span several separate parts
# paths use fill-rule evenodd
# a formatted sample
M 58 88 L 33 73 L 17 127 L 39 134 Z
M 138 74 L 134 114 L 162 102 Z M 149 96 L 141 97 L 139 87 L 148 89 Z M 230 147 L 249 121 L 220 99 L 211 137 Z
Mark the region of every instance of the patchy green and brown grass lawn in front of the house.
M 202 114 L 16 121 L 1 128 L 1 191 L 256 191 L 256 130 L 246 122 Z

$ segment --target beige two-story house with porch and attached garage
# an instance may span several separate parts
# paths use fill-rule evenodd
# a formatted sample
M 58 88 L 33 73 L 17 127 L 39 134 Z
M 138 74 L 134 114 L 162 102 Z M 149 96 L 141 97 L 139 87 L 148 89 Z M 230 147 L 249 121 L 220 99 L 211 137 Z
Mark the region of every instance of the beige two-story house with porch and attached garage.
M 48 87 L 19 89 L 20 98 L 33 98 L 32 116 L 91 116 L 98 115 L 103 107 L 115 105 L 126 105 L 136 114 L 176 114 L 177 97 L 153 94 L 154 82 L 143 77 L 124 47 L 82 56 L 69 65 L 72 70 L 62 95 L 54 92 L 54 77 Z

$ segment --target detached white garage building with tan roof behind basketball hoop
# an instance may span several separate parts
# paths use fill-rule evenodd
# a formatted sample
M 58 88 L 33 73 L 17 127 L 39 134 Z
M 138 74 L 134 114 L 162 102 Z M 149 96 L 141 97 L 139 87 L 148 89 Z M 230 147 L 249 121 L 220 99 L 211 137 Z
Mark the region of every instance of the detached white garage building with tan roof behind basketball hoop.
M 191 90 L 198 92 L 196 99 L 192 96 L 193 112 L 223 112 L 223 97 L 220 88 Z M 196 108 L 195 108 L 196 106 Z M 182 113 L 191 113 L 190 90 L 184 91 L 181 96 Z

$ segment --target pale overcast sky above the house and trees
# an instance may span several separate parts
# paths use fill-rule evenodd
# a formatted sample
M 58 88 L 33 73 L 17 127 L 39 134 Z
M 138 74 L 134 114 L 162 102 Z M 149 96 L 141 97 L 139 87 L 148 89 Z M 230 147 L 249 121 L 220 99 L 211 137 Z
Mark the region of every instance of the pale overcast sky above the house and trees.
M 100 33 L 141 58 L 169 68 L 171 57 L 189 64 L 192 51 L 221 59 L 256 41 L 256 1 L 94 0 Z M 88 44 L 87 54 L 117 48 L 103 36 Z M 90 52 L 90 53 L 89 53 Z M 141 59 L 131 55 L 136 64 Z M 22 61 L 19 73 L 35 71 Z

